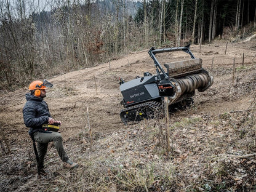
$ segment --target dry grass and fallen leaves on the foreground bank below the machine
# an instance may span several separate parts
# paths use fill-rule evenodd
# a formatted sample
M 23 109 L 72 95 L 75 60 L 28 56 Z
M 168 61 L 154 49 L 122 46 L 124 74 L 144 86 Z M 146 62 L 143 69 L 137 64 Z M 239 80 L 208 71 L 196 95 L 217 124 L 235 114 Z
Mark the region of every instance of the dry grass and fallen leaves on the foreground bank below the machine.
M 76 145 L 85 150 L 79 155 L 81 167 L 39 181 L 43 191 L 255 190 L 254 157 L 236 157 L 255 152 L 255 100 L 247 111 L 172 119 L 170 153 L 159 140 L 163 120 L 113 132 L 94 140 L 92 148 L 81 132 Z

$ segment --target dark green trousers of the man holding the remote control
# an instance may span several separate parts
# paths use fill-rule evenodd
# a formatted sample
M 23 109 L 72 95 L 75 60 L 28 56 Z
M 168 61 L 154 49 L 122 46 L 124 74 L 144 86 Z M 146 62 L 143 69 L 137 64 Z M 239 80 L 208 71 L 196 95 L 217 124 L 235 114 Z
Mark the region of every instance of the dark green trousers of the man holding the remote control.
M 35 132 L 34 140 L 38 143 L 38 169 L 44 169 L 44 157 L 47 153 L 48 143 L 54 142 L 54 146 L 58 151 L 58 155 L 63 162 L 68 161 L 68 156 L 64 150 L 62 135 L 58 132 L 46 131 L 46 132 Z

